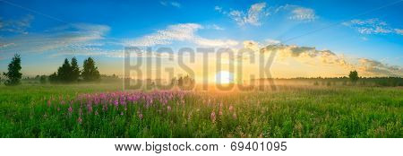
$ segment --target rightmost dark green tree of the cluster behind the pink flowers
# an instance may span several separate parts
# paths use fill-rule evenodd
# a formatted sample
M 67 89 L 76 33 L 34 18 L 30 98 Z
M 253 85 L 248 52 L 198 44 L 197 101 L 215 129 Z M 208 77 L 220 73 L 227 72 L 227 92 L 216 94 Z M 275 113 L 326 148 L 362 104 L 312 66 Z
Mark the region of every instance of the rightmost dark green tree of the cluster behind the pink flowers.
M 84 81 L 96 81 L 99 80 L 100 74 L 98 71 L 98 67 L 95 66 L 95 62 L 91 57 L 84 60 L 84 64 L 82 65 L 82 78 Z

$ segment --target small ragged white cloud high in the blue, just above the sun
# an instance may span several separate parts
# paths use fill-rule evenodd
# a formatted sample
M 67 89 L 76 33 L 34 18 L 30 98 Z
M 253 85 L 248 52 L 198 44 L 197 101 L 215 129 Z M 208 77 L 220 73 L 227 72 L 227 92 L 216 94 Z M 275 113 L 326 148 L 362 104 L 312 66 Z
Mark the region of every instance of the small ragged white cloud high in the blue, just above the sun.
M 232 20 L 234 20 L 238 25 L 244 26 L 246 24 L 251 24 L 254 26 L 262 25 L 262 17 L 268 16 L 269 13 L 265 11 L 266 3 L 257 3 L 252 4 L 247 12 L 232 10 L 230 12 L 224 12 L 223 9 L 219 6 L 216 6 L 214 9 L 219 12 L 226 14 Z

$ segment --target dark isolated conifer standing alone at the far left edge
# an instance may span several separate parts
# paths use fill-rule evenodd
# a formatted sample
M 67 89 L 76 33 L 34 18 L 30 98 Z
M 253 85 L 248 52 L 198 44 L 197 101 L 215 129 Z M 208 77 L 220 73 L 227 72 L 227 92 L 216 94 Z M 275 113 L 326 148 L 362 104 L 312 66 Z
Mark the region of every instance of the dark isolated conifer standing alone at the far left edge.
M 3 73 L 8 78 L 4 82 L 5 85 L 17 85 L 21 83 L 21 57 L 15 54 L 12 62 L 8 65 L 8 73 Z

